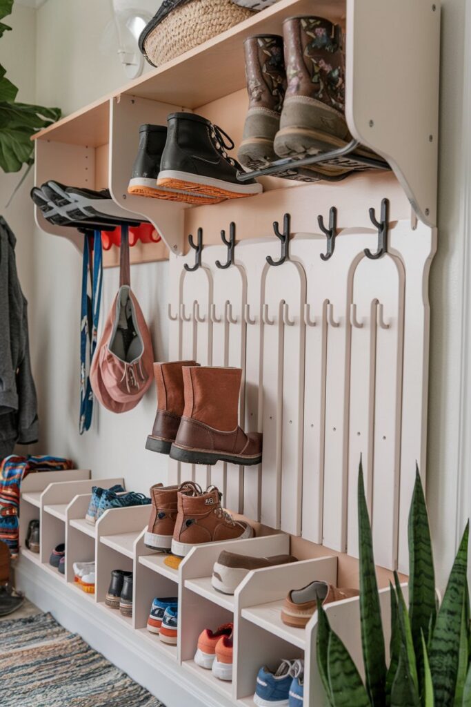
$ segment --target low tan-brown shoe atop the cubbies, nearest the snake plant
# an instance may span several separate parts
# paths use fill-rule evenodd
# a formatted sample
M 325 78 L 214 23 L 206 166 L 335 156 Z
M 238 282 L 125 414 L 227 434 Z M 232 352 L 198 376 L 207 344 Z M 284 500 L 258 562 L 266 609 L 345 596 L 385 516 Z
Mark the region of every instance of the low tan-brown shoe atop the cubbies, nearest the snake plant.
M 302 589 L 292 589 L 281 611 L 281 620 L 287 626 L 303 629 L 317 609 L 317 598 L 324 604 L 357 597 L 356 589 L 338 589 L 327 582 L 311 582 Z

